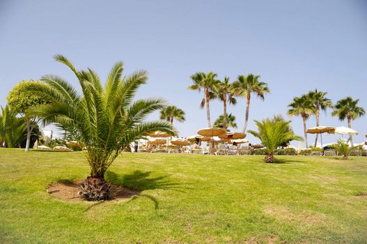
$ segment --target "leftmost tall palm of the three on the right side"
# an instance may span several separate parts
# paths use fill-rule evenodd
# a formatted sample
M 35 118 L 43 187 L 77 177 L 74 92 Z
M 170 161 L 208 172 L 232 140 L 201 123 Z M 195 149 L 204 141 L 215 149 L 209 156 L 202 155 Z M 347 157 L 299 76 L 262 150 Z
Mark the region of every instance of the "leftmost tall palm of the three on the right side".
M 309 116 L 313 114 L 313 104 L 309 96 L 302 95 L 300 97 L 293 98 L 293 102 L 288 105 L 288 115 L 290 116 L 302 116 L 302 121 L 304 124 L 304 141 L 306 142 L 306 148 L 309 147 L 309 143 L 307 142 L 307 127 L 306 121 L 309 119 Z

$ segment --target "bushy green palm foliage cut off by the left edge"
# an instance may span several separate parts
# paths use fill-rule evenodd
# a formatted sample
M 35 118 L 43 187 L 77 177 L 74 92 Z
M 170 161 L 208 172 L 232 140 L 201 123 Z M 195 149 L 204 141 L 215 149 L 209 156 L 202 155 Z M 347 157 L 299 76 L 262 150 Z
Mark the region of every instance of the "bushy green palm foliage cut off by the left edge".
M 26 132 L 23 118 L 17 118 L 17 112 L 11 110 L 8 105 L 1 107 L 0 114 L 0 144 L 6 147 L 20 146 L 20 142 Z

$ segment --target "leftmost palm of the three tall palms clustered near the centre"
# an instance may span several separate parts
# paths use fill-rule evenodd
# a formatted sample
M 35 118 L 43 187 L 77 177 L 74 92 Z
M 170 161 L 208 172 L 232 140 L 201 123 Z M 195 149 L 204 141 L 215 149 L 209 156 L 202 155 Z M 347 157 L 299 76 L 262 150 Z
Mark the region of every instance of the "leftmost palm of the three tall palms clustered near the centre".
M 209 100 L 214 99 L 215 95 L 213 91 L 217 89 L 217 86 L 219 85 L 219 81 L 215 79 L 217 77 L 217 74 L 215 73 L 203 73 L 198 72 L 192 75 L 190 78 L 192 79 L 192 84 L 188 88 L 190 90 L 196 90 L 198 92 L 201 92 L 201 89 L 204 90 L 204 98 L 201 100 L 201 108 L 204 108 L 206 105 L 206 117 L 208 120 L 208 127 L 212 127 L 212 123 L 210 123 L 210 108 L 209 108 Z

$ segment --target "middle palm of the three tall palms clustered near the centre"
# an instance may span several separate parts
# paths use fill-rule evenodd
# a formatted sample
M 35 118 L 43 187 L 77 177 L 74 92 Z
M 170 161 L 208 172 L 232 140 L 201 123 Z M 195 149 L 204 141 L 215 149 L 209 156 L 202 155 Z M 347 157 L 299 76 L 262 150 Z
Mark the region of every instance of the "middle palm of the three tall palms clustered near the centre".
M 234 97 L 235 93 L 233 89 L 233 84 L 229 83 L 229 77 L 224 77 L 223 82 L 219 82 L 217 89 L 214 91 L 214 93 L 219 98 L 219 100 L 223 102 L 222 127 L 227 130 L 227 102 L 232 105 L 235 105 L 237 103 L 237 100 Z

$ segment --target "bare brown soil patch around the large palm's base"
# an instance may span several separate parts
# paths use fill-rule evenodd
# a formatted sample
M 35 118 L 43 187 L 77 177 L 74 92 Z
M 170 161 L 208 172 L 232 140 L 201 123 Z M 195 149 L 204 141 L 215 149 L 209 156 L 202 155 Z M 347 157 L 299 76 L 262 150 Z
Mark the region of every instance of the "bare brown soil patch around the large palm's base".
M 59 182 L 49 184 L 47 192 L 58 199 L 63 201 L 84 201 L 79 198 L 78 187 L 83 180 L 75 181 L 73 183 Z M 139 195 L 139 191 L 133 191 L 127 188 L 123 188 L 120 185 L 111 185 L 111 198 L 109 201 L 124 201 Z

